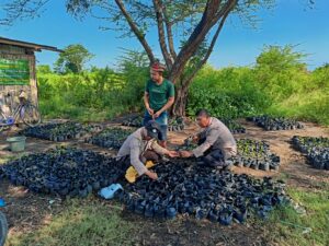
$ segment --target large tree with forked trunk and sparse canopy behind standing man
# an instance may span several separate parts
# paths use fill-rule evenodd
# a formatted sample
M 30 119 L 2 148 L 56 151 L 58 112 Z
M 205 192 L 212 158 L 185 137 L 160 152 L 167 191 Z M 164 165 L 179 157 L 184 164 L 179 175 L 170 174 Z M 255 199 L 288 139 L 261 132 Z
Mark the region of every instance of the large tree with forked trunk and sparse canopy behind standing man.
M 2 24 L 33 17 L 49 0 L 12 0 L 5 3 Z M 313 3 L 313 0 L 305 0 Z M 136 37 L 150 62 L 156 60 L 149 35 L 156 28 L 168 77 L 175 83 L 173 113 L 184 115 L 189 86 L 209 58 L 228 16 L 253 25 L 257 12 L 275 0 L 66 0 L 76 17 L 88 14 L 115 23 L 123 36 Z M 106 27 L 105 27 L 106 28 Z M 110 25 L 113 28 L 113 25 Z M 234 37 L 232 37 L 234 38 Z

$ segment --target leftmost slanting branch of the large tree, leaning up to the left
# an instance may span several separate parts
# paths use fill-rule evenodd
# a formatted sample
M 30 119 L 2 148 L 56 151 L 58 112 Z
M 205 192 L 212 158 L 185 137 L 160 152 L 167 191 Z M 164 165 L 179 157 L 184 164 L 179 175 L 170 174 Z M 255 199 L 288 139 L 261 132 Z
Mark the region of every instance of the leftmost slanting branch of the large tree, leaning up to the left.
M 117 4 L 117 7 L 120 8 L 121 12 L 123 13 L 123 15 L 125 16 L 128 25 L 131 26 L 132 31 L 134 32 L 134 34 L 136 35 L 137 39 L 139 40 L 139 43 L 141 44 L 141 46 L 144 47 L 150 62 L 154 62 L 156 60 L 151 48 L 149 47 L 147 40 L 145 39 L 145 34 L 143 34 L 137 24 L 133 21 L 132 16 L 129 15 L 129 13 L 127 12 L 124 3 L 122 2 L 122 0 L 115 0 L 115 3 Z

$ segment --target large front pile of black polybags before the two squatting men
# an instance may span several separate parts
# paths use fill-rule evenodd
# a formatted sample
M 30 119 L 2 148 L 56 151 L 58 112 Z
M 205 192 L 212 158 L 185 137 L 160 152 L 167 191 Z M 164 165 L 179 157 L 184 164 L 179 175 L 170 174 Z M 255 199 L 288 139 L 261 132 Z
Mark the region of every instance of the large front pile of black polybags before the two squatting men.
M 173 160 L 154 169 L 158 180 L 141 176 L 118 196 L 128 210 L 147 218 L 188 213 L 229 225 L 254 214 L 266 218 L 275 206 L 287 201 L 282 181 L 201 167 L 193 160 Z

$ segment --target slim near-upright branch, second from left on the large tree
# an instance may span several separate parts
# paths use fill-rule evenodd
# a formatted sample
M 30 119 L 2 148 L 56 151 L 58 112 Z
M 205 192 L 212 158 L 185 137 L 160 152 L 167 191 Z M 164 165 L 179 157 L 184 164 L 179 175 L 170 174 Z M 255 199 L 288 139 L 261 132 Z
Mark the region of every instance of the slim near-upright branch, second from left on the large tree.
M 168 52 L 167 44 L 166 44 L 166 34 L 163 28 L 163 12 L 162 12 L 162 2 L 161 0 L 154 0 L 156 16 L 157 16 L 157 25 L 158 25 L 158 34 L 159 34 L 159 44 L 160 48 L 167 65 L 167 68 L 170 70 L 172 67 L 173 59 Z

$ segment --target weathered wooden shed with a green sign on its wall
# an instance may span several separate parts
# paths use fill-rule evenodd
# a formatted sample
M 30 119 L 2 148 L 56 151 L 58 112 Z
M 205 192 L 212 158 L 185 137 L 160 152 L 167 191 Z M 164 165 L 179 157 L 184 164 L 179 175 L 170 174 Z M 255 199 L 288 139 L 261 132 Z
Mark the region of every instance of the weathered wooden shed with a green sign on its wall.
M 34 105 L 37 102 L 35 51 L 63 50 L 47 45 L 0 37 L 0 93 L 18 96 L 24 90 Z M 12 106 L 12 105 L 11 105 Z

